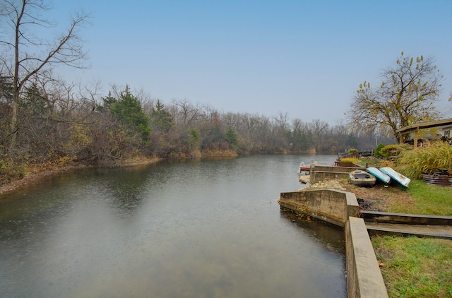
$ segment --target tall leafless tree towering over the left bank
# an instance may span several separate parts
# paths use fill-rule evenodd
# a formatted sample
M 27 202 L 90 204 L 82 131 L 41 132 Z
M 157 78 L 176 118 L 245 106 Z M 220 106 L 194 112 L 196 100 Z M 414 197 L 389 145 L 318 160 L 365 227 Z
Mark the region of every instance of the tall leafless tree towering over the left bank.
M 42 0 L 4 0 L 0 14 L 1 25 L 0 69 L 1 76 L 13 78 L 13 99 L 9 125 L 9 150 L 14 148 L 18 126 L 18 105 L 25 86 L 35 76 L 46 76 L 57 65 L 83 68 L 86 53 L 83 52 L 78 29 L 87 23 L 88 14 L 78 13 L 71 18 L 69 27 L 54 40 L 35 35 L 37 30 L 50 30 L 54 24 L 42 17 L 51 7 Z M 36 31 L 34 31 L 36 29 Z

